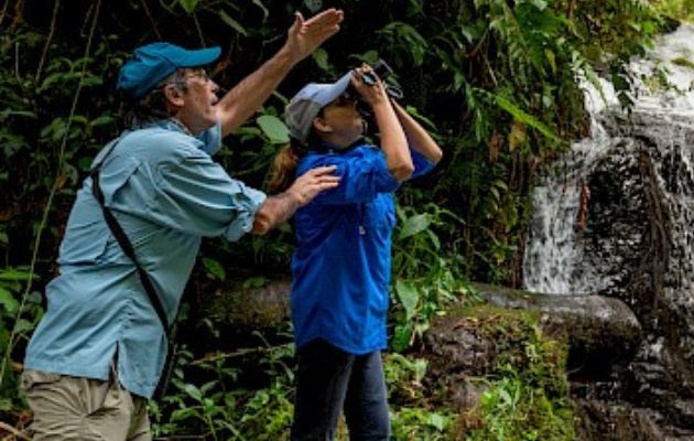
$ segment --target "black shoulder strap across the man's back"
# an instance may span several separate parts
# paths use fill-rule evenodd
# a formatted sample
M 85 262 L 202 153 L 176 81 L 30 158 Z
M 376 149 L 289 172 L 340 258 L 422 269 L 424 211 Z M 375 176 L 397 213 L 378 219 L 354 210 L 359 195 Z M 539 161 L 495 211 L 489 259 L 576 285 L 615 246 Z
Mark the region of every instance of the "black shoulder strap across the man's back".
M 111 154 L 111 152 L 113 151 L 116 146 L 118 146 L 119 142 L 120 142 L 120 139 L 115 141 L 111 144 L 111 147 L 108 149 L 106 154 L 101 157 L 101 160 L 93 165 L 91 172 L 90 172 L 91 193 L 94 194 L 94 197 L 96 197 L 96 200 L 99 202 L 99 205 L 101 205 L 101 211 L 104 212 L 104 218 L 106 219 L 106 224 L 108 224 L 108 227 L 110 228 L 111 233 L 116 237 L 116 240 L 118 240 L 120 248 L 123 250 L 126 256 L 128 256 L 130 260 L 132 260 L 135 268 L 138 269 L 138 276 L 140 276 L 140 282 L 142 282 L 142 287 L 144 288 L 144 291 L 147 291 L 147 294 L 150 298 L 150 302 L 152 303 L 152 306 L 154 308 L 156 315 L 159 315 L 159 320 L 162 323 L 164 333 L 166 333 L 166 336 L 169 337 L 171 326 L 169 324 L 169 319 L 166 318 L 166 313 L 164 312 L 164 306 L 162 305 L 161 299 L 156 293 L 156 289 L 154 288 L 154 284 L 152 283 L 152 280 L 150 279 L 150 276 L 148 275 L 148 272 L 144 270 L 144 268 L 142 268 L 142 266 L 138 261 L 134 254 L 134 248 L 132 247 L 130 239 L 126 235 L 126 232 L 120 226 L 120 223 L 118 222 L 113 213 L 106 206 L 104 202 L 105 201 L 104 193 L 101 193 L 101 187 L 99 186 L 99 172 L 101 171 L 101 165 L 106 161 L 106 158 L 108 158 L 108 155 Z

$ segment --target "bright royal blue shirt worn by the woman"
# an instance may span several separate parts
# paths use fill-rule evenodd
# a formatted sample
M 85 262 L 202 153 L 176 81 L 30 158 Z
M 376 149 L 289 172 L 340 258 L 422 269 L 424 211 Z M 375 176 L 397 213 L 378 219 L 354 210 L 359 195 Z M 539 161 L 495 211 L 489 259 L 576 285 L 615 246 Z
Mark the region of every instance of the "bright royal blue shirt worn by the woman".
M 433 166 L 411 152 L 413 175 Z M 308 153 L 297 175 L 337 165 L 336 189 L 295 215 L 292 321 L 297 347 L 323 338 L 351 354 L 387 347 L 386 321 L 395 225 L 392 176 L 382 151 L 359 146 L 345 153 Z

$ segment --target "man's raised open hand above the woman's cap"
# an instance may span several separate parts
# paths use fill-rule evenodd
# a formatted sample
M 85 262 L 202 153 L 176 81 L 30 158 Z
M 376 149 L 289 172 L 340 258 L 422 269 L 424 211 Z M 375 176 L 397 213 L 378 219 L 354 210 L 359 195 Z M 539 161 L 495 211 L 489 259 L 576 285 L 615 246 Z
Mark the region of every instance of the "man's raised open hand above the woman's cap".
M 339 31 L 344 14 L 341 10 L 330 8 L 308 20 L 304 20 L 301 12 L 288 31 L 285 50 L 294 62 L 299 63 L 311 55 L 323 42 Z

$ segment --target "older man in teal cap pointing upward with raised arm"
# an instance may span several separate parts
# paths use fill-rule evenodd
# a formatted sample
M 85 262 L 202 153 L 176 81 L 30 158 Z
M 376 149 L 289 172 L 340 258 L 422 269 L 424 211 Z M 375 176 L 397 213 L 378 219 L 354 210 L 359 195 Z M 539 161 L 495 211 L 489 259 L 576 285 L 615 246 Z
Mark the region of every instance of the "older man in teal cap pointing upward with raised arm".
M 333 168 L 318 168 L 267 197 L 210 155 L 341 20 L 334 9 L 308 21 L 297 14 L 284 46 L 221 99 L 203 69 L 218 47 L 153 43 L 123 65 L 129 129 L 97 155 L 77 194 L 61 275 L 26 349 L 34 440 L 151 439 L 145 401 L 200 238 L 262 234 L 337 185 Z

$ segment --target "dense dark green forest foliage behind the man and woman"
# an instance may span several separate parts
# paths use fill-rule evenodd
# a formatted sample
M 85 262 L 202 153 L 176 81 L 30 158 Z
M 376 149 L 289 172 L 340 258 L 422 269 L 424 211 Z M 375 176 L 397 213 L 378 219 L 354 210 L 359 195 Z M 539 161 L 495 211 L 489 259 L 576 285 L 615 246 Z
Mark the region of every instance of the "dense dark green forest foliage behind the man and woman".
M 217 159 L 232 175 L 263 187 L 265 171 L 288 139 L 280 121 L 285 97 L 307 80 L 335 79 L 362 61 L 389 62 L 404 104 L 445 152 L 434 173 L 399 201 L 389 326 L 392 347 L 406 351 L 448 303 L 469 295 L 464 280 L 517 282 L 533 173 L 583 132 L 576 78 L 597 84 L 595 72 L 610 73 L 623 90 L 628 78 L 621 62 L 649 46 L 664 23 L 659 13 L 692 15 L 691 0 L 653 3 L 657 10 L 635 0 L 405 0 L 399 8 L 389 1 L 344 2 L 340 33 L 296 67 L 260 115 L 228 138 Z M 295 10 L 310 17 L 322 8 L 307 0 L 98 4 L 100 10 L 56 2 L 51 15 L 36 0 L 13 8 L 6 1 L 0 12 L 0 275 L 26 277 L 32 268 L 36 275 L 34 284 L 0 278 L 0 354 L 8 362 L 0 378 L 3 421 L 23 409 L 19 363 L 42 313 L 40 292 L 56 271 L 52 262 L 74 195 L 93 158 L 121 129 L 113 85 L 127 54 L 149 41 L 218 44 L 224 56 L 215 80 L 228 87 L 280 47 Z M 208 241 L 188 297 L 204 302 L 230 279 L 241 277 L 250 286 L 285 272 L 292 249 L 290 225 L 235 244 Z M 189 316 L 196 316 L 194 306 Z M 234 338 L 224 338 L 228 324 L 200 320 L 199 326 L 207 326 L 218 347 L 238 349 Z M 245 356 L 208 359 L 200 354 L 206 340 L 189 338 L 183 361 L 193 362 L 180 366 L 172 395 L 153 404 L 158 432 L 283 439 L 291 418 L 290 347 L 263 344 L 251 351 L 262 354 L 248 361 L 252 367 L 242 368 L 238 361 Z M 391 380 L 391 390 L 416 378 L 413 363 L 393 354 L 387 366 L 400 369 L 391 372 L 400 379 Z M 253 368 L 264 383 L 251 388 L 246 380 Z M 520 387 L 543 408 L 534 386 L 518 372 L 498 389 L 512 398 Z M 487 402 L 508 402 L 491 390 Z M 421 408 L 401 406 L 398 394 L 398 438 L 434 440 L 448 430 L 445 410 L 421 401 L 408 401 Z M 511 402 L 514 409 L 524 406 L 523 399 Z M 505 412 L 492 426 L 513 419 Z

